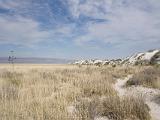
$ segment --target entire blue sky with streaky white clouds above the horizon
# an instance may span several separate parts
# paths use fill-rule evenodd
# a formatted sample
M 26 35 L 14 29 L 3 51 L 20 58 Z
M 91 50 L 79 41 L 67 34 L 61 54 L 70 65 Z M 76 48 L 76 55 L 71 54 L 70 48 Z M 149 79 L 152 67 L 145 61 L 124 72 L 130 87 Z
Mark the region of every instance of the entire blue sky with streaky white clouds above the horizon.
M 0 0 L 0 57 L 122 58 L 160 49 L 160 0 Z

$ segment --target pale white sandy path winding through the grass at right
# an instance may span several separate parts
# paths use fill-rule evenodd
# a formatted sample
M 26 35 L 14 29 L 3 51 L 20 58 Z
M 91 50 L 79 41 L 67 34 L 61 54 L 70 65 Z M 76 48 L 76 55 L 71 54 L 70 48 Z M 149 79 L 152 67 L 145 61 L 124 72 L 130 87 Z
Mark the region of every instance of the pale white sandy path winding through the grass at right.
M 114 85 L 114 88 L 117 90 L 119 96 L 142 96 L 146 102 L 146 104 L 150 108 L 150 114 L 152 120 L 160 120 L 160 105 L 156 104 L 153 101 L 154 97 L 157 94 L 160 94 L 160 90 L 152 89 L 152 88 L 145 88 L 142 86 L 134 86 L 125 88 L 124 85 L 131 78 L 132 76 L 129 75 L 125 79 L 118 79 L 117 83 Z

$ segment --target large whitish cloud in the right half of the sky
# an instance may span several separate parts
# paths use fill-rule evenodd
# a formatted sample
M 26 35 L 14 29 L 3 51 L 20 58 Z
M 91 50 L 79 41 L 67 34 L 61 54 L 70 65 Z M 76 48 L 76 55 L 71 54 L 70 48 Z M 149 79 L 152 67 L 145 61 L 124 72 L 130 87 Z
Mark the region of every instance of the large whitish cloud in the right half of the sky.
M 122 9 L 107 16 L 108 22 L 91 23 L 88 32 L 93 38 L 116 42 L 118 40 L 144 40 L 160 38 L 160 24 L 156 16 L 135 9 Z

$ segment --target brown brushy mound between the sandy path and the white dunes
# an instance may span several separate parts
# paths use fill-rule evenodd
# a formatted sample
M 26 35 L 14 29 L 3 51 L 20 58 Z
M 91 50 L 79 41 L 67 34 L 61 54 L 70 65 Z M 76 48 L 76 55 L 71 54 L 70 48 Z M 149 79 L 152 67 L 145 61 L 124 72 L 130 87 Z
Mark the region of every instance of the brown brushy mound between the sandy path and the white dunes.
M 160 68 L 143 67 L 127 81 L 126 86 L 142 85 L 144 87 L 160 89 Z

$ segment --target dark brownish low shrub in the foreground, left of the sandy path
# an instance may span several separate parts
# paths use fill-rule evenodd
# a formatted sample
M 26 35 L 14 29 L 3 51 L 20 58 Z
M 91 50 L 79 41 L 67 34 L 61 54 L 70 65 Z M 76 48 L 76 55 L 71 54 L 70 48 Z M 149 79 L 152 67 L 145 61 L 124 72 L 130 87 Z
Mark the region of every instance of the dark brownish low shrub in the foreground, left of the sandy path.
M 101 103 L 101 114 L 109 119 L 139 119 L 149 120 L 149 109 L 144 101 L 140 98 L 112 96 L 106 98 Z

